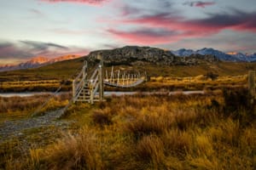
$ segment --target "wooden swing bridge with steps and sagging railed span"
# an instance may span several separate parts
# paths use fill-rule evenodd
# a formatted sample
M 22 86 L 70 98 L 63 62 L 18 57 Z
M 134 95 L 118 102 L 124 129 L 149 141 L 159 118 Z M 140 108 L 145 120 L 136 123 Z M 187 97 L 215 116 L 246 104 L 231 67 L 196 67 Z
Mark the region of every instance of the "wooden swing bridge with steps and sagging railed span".
M 96 69 L 89 74 L 87 62 L 84 62 L 82 71 L 73 80 L 73 103 L 77 101 L 93 104 L 95 101 L 104 99 L 104 85 L 116 88 L 131 88 L 146 81 L 146 73 L 125 73 L 124 71 L 113 71 L 108 76 L 106 70 L 103 74 L 103 62 L 96 66 Z

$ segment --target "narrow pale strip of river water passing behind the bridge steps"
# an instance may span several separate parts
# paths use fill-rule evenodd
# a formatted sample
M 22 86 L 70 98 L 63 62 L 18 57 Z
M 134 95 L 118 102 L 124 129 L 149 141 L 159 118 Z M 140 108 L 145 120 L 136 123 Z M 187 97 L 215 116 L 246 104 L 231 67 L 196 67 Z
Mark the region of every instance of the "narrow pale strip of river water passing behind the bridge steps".
M 58 94 L 67 94 L 68 92 L 61 92 Z M 54 94 L 50 92 L 26 92 L 26 93 L 0 93 L 1 97 L 9 98 L 9 97 L 29 97 L 33 95 L 43 95 L 43 94 Z M 134 95 L 134 94 L 204 94 L 204 91 L 175 91 L 175 92 L 104 92 L 105 96 L 122 96 L 122 95 Z

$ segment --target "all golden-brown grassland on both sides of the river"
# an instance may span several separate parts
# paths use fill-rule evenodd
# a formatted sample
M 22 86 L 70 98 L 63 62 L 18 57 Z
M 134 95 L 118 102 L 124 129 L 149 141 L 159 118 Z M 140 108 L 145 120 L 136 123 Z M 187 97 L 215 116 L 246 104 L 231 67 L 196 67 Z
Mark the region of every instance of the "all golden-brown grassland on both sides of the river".
M 73 59 L 3 72 L 1 90 L 48 91 L 60 85 L 70 90 L 82 65 L 82 59 Z M 147 71 L 150 80 L 121 91 L 204 90 L 204 94 L 136 94 L 112 96 L 95 105 L 73 104 L 55 120 L 58 126 L 1 137 L 0 169 L 256 168 L 256 102 L 247 92 L 247 71 L 256 70 L 255 63 L 134 67 Z M 218 77 L 207 76 L 209 72 Z M 49 100 L 36 116 L 64 107 L 69 99 L 71 94 L 0 98 L 0 128 L 5 122 L 29 120 L 45 101 Z

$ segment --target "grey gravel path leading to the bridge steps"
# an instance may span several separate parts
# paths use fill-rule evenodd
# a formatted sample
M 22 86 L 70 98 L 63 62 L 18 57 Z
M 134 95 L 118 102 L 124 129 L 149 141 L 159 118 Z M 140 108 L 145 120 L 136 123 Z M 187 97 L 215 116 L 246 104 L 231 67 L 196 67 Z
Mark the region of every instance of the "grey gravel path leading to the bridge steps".
M 8 139 L 19 137 L 27 129 L 37 127 L 47 127 L 54 125 L 55 127 L 67 127 L 69 122 L 57 120 L 61 116 L 61 109 L 57 111 L 49 111 L 44 116 L 29 117 L 22 120 L 5 121 L 0 124 L 0 144 Z

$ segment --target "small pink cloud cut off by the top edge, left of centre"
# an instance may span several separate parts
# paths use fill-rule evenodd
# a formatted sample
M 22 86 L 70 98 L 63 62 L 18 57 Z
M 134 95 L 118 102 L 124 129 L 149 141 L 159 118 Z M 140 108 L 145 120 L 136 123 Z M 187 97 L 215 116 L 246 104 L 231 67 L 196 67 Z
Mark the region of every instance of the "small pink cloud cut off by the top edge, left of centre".
M 101 5 L 102 3 L 107 3 L 111 0 L 39 0 L 46 3 L 84 3 L 89 5 Z

